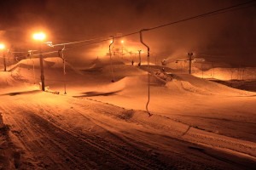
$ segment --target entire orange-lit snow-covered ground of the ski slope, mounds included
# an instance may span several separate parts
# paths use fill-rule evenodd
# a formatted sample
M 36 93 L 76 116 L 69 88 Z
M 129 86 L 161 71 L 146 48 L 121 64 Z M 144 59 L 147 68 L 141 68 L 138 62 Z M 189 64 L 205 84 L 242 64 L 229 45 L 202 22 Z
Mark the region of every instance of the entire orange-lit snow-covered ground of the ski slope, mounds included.
M 256 167 L 256 93 L 151 66 L 148 116 L 146 65 L 38 61 L 0 71 L 0 169 Z

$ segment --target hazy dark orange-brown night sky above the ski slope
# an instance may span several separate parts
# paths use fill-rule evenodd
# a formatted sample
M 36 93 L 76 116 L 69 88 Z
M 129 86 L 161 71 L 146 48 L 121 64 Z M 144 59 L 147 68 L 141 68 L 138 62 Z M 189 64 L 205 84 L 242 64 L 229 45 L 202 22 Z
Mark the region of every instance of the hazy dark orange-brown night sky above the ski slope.
M 48 41 L 73 42 L 116 36 L 183 20 L 243 0 L 9 0 L 0 2 L 0 41 L 10 48 L 34 48 L 32 33 L 44 30 Z M 256 2 L 223 14 L 189 20 L 144 33 L 154 57 L 186 58 L 188 52 L 209 62 L 256 65 Z M 139 35 L 125 45 L 139 44 Z M 119 40 L 117 40 L 119 41 Z M 130 44 L 129 44 L 129 43 Z M 106 46 L 106 47 L 105 47 Z M 104 47 L 104 48 L 102 48 Z M 78 61 L 96 58 L 108 42 L 67 53 Z M 108 53 L 108 51 L 106 52 Z

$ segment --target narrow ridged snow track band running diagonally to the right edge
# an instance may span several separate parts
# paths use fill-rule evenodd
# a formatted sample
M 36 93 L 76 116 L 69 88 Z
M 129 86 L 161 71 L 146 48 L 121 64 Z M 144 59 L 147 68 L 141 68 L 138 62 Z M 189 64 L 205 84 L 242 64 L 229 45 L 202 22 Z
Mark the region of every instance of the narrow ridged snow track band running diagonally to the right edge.
M 243 155 L 245 157 L 255 160 L 256 145 L 253 142 L 248 142 L 240 139 L 232 139 L 224 135 L 219 135 L 216 133 L 211 133 L 198 129 L 197 127 L 190 127 L 189 124 L 178 122 L 166 116 L 154 114 L 154 116 L 148 118 L 148 116 L 146 116 L 146 112 L 144 111 L 126 111 L 122 108 L 119 108 L 118 111 L 117 109 L 113 111 L 113 109 L 111 108 L 116 106 L 103 105 L 101 102 L 96 103 L 98 103 L 98 105 L 101 105 L 101 107 L 91 109 L 103 115 L 119 119 L 120 117 L 125 117 L 124 115 L 127 114 L 129 119 L 124 119 L 125 122 L 135 123 L 142 127 L 147 127 L 151 131 L 152 129 L 154 129 L 154 132 L 156 133 L 166 134 L 177 139 L 181 138 L 182 140 L 189 141 L 195 144 L 206 144 L 210 147 L 233 150 L 234 153 L 236 153 L 237 155 Z

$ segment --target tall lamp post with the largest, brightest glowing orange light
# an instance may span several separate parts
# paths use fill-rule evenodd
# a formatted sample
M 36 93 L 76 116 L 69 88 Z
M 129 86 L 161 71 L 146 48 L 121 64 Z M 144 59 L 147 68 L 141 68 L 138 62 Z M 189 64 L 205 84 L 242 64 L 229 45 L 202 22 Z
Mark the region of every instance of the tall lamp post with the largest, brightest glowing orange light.
M 44 64 L 43 64 L 43 54 L 42 54 L 42 41 L 45 39 L 45 34 L 43 32 L 35 33 L 33 35 L 34 40 L 39 42 L 39 59 L 40 59 L 40 68 L 41 68 L 41 82 L 42 82 L 42 90 L 45 91 L 44 88 Z

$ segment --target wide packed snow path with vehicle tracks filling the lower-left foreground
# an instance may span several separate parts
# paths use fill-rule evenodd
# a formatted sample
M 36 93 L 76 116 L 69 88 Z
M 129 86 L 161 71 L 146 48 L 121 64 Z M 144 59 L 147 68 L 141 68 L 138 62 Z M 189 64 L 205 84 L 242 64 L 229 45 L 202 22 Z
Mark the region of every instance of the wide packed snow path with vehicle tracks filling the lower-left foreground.
M 255 165 L 253 158 L 178 138 L 186 135 L 187 127 L 172 129 L 172 124 L 150 122 L 144 111 L 40 91 L 0 99 L 3 122 L 20 153 L 19 168 L 241 169 Z

